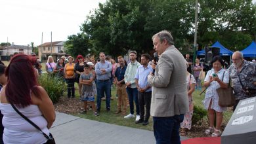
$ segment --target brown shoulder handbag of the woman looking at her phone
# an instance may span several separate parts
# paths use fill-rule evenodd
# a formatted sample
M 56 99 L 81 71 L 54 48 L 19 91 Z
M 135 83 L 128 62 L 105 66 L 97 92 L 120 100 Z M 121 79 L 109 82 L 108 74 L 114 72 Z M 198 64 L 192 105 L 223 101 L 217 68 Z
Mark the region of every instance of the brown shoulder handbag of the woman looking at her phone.
M 223 73 L 223 79 L 224 74 Z M 223 80 L 222 80 L 223 81 Z M 236 99 L 234 96 L 233 88 L 230 86 L 230 81 L 228 82 L 228 88 L 217 88 L 217 93 L 219 95 L 219 106 L 220 107 L 232 107 L 236 103 Z

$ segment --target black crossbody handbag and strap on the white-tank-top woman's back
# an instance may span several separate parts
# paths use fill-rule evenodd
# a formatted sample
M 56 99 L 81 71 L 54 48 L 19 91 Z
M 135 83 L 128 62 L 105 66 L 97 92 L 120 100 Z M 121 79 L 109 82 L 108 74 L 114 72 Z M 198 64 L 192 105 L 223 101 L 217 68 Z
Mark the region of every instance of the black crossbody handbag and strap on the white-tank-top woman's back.
M 34 126 L 37 130 L 41 131 L 43 133 L 43 135 L 45 136 L 45 138 L 47 139 L 46 144 L 55 144 L 55 140 L 53 138 L 53 135 L 50 133 L 49 136 L 47 134 L 45 134 L 41 128 L 39 128 L 39 126 L 37 126 L 35 123 L 33 123 L 30 119 L 28 119 L 26 116 L 24 116 L 22 113 L 20 113 L 20 111 L 18 111 L 18 109 L 11 103 L 12 108 L 25 120 L 27 120 L 30 124 L 32 124 L 32 126 Z

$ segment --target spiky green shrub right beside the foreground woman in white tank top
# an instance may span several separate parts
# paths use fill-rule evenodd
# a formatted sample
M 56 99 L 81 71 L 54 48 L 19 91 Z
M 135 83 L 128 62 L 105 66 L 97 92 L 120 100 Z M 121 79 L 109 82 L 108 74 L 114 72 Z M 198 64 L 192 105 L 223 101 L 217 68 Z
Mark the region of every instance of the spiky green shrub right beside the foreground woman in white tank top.
M 59 77 L 53 75 L 42 74 L 38 79 L 39 84 L 45 88 L 47 94 L 53 101 L 57 103 L 60 96 L 63 96 L 64 90 L 66 90 L 66 84 Z

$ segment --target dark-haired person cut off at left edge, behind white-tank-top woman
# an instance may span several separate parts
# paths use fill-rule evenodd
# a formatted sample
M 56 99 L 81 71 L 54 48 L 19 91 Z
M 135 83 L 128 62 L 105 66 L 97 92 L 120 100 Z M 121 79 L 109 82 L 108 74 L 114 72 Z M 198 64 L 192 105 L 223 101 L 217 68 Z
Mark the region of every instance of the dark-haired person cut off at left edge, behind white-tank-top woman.
M 5 65 L 0 64 L 0 90 L 3 88 L 3 85 L 5 85 L 7 82 L 7 77 L 5 77 Z M 3 143 L 3 124 L 2 124 L 3 115 L 0 111 L 0 143 Z

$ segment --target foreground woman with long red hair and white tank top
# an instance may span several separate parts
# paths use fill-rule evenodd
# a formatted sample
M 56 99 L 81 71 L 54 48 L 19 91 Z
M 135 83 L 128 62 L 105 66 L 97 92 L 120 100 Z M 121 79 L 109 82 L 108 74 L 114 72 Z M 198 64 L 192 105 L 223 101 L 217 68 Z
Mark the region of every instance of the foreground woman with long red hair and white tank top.
M 33 69 L 35 61 L 28 55 L 17 54 L 5 71 L 7 84 L 0 92 L 4 143 L 46 143 L 48 139 L 42 132 L 48 137 L 50 135 L 49 128 L 55 120 L 55 111 L 45 89 L 37 84 Z M 18 114 L 15 107 L 42 132 Z

